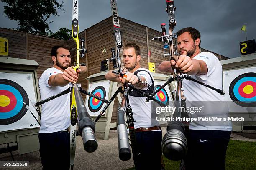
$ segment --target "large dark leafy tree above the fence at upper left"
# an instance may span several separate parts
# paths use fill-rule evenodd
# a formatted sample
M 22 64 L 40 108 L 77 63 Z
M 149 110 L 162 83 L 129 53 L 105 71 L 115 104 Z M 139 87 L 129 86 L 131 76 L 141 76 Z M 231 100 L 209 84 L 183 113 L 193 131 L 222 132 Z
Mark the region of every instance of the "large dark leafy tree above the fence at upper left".
M 58 11 L 65 11 L 62 7 L 64 2 L 56 0 L 1 0 L 7 3 L 4 6 L 4 14 L 10 20 L 19 22 L 20 31 L 31 32 L 40 35 L 49 35 L 50 16 L 59 16 Z

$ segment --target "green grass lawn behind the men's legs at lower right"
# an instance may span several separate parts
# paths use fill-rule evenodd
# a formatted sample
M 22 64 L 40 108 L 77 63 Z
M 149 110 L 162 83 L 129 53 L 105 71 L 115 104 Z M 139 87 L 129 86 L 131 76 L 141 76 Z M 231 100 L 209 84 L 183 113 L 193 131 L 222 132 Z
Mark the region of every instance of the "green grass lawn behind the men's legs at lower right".
M 166 170 L 179 170 L 179 161 L 164 158 L 164 163 Z M 256 170 L 256 142 L 230 140 L 226 154 L 226 170 Z

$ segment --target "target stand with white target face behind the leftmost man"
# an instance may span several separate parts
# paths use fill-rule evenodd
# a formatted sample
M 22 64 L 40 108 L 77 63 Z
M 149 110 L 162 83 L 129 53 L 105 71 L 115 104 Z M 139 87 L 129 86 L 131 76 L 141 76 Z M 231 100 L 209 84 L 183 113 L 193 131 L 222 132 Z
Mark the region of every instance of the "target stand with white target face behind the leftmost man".
M 39 116 L 33 107 L 40 100 L 38 66 L 34 60 L 0 57 L 0 145 L 8 146 L 0 153 L 39 150 L 40 126 L 34 118 Z

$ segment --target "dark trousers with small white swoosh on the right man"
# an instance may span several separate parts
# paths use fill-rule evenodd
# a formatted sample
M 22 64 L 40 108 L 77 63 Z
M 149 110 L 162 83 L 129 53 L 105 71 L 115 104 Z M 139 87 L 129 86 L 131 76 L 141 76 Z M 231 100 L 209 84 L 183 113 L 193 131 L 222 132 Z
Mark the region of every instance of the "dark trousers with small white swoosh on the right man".
M 186 170 L 225 170 L 231 131 L 190 130 Z

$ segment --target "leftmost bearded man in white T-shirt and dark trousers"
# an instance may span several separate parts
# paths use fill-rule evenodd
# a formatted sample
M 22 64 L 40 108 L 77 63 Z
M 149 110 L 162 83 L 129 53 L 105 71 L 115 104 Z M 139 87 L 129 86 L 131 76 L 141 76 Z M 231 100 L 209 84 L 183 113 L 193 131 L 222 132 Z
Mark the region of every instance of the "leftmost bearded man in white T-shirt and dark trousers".
M 69 47 L 54 46 L 51 49 L 53 66 L 45 70 L 39 79 L 41 100 L 58 94 L 68 88 L 68 84 L 77 82 L 79 74 L 86 72 L 86 67 L 74 71 L 70 67 Z M 42 105 L 41 126 L 38 134 L 40 157 L 43 170 L 69 170 L 70 135 L 70 92 Z

